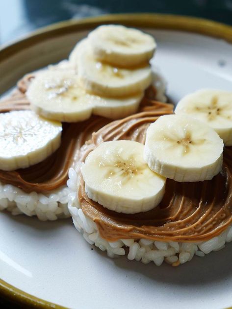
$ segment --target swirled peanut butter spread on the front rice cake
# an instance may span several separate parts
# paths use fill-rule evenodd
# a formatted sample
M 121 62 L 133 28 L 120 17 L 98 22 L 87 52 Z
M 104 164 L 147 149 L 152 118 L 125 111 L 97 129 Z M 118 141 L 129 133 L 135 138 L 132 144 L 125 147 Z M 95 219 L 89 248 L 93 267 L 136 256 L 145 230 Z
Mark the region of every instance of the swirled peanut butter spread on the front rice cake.
M 111 122 L 81 148 L 78 160 L 84 161 L 99 143 L 112 140 L 145 142 L 146 130 L 160 115 L 172 112 L 171 106 L 156 103 L 152 111 Z M 149 238 L 164 241 L 198 242 L 222 233 L 232 222 L 232 147 L 225 147 L 223 168 L 210 181 L 178 183 L 168 179 L 162 202 L 153 210 L 139 214 L 120 214 L 90 200 L 81 177 L 78 198 L 84 214 L 97 224 L 108 241 L 123 238 Z

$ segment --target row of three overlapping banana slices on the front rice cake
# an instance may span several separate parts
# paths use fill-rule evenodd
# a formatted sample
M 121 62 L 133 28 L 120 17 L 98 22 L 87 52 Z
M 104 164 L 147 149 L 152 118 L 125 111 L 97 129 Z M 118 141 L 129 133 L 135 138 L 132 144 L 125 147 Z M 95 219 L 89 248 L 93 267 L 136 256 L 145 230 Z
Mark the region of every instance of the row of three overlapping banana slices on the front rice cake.
M 81 167 L 87 196 L 135 214 L 160 203 L 166 178 L 198 182 L 217 175 L 224 144 L 232 145 L 232 93 L 204 89 L 183 97 L 175 112 L 148 127 L 145 145 L 111 141 L 90 152 Z

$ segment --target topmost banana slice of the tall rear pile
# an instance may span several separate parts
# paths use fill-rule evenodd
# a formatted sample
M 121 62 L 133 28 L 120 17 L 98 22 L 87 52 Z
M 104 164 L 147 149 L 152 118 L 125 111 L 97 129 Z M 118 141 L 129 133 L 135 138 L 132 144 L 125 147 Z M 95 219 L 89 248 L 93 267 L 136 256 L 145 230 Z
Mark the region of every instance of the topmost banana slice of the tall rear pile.
M 115 66 L 131 67 L 149 62 L 156 43 L 151 35 L 122 25 L 103 25 L 88 38 L 95 56 Z

